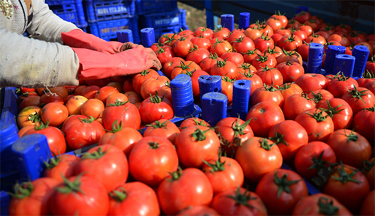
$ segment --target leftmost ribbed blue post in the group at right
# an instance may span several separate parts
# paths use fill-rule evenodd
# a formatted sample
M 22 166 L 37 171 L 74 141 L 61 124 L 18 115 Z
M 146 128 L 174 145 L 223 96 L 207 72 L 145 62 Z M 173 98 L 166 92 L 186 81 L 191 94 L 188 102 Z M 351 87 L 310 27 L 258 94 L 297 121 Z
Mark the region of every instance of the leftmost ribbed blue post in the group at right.
M 306 73 L 320 74 L 323 62 L 323 51 L 324 46 L 322 44 L 310 43 Z

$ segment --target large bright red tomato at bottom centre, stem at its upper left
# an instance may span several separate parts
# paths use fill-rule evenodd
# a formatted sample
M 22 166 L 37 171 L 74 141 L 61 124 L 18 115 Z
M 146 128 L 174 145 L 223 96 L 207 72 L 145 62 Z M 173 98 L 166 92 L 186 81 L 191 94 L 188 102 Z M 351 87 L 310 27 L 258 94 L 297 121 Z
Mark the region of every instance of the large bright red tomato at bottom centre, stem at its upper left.
M 202 171 L 186 168 L 164 179 L 157 189 L 157 195 L 162 211 L 166 215 L 176 215 L 190 205 L 209 205 L 213 189 L 209 178 Z

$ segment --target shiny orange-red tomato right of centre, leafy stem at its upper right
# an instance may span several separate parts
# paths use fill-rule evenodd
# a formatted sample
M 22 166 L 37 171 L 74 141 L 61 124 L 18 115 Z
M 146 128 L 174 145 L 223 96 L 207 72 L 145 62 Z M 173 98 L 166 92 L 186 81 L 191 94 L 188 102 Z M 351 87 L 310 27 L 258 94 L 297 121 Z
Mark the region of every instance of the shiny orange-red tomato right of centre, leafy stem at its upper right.
M 238 147 L 235 159 L 250 182 L 257 183 L 269 171 L 280 168 L 283 156 L 274 142 L 266 138 L 252 137 Z M 263 166 L 253 166 L 262 164 Z

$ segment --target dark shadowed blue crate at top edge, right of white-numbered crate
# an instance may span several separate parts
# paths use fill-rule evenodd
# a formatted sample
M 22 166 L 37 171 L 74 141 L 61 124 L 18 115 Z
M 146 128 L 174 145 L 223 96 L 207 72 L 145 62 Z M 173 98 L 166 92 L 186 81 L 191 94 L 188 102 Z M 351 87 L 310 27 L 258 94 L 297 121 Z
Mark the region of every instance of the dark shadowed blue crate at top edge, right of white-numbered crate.
M 137 0 L 136 10 L 137 14 L 145 15 L 149 13 L 158 13 L 160 11 L 171 11 L 177 9 L 176 0 Z

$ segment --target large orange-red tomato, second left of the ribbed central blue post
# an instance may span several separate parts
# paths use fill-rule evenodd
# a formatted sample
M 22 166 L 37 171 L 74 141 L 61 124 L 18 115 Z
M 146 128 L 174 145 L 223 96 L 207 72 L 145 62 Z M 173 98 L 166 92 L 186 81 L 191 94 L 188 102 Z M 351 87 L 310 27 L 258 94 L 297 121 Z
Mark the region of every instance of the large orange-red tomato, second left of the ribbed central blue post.
M 111 130 L 116 120 L 120 121 L 122 127 L 138 130 L 141 125 L 141 114 L 137 107 L 128 101 L 116 102 L 106 106 L 102 113 L 104 128 Z

